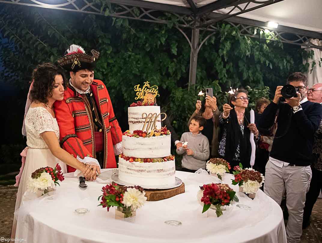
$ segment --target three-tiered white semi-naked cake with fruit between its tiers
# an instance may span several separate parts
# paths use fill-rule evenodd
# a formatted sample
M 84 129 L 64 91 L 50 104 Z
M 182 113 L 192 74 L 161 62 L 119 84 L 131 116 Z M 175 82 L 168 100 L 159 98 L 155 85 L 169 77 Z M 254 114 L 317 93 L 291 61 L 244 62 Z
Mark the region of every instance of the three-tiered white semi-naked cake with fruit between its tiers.
M 158 115 L 160 107 L 128 108 L 129 131 L 122 136 L 123 155 L 118 161 L 118 178 L 133 185 L 174 185 L 175 160 L 170 151 L 171 135 L 132 135 L 134 131 L 143 129 L 145 118 L 142 118 L 142 113 Z M 156 127 L 161 128 L 161 120 L 156 121 Z M 146 134 L 149 135 L 149 131 Z

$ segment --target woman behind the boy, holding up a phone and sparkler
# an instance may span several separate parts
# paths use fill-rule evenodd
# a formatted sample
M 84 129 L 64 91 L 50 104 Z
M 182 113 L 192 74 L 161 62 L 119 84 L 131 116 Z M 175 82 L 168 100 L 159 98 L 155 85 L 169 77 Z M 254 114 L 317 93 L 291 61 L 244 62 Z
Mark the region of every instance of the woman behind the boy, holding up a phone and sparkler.
M 198 115 L 206 119 L 206 125 L 204 126 L 204 129 L 201 133 L 208 138 L 210 157 L 213 158 L 218 157 L 218 126 L 220 111 L 217 107 L 216 97 L 210 97 L 209 95 L 207 95 L 205 100 L 206 102 L 204 103 L 204 105 L 200 100 L 197 100 L 196 110 L 191 115 L 188 121 L 188 126 L 194 116 Z

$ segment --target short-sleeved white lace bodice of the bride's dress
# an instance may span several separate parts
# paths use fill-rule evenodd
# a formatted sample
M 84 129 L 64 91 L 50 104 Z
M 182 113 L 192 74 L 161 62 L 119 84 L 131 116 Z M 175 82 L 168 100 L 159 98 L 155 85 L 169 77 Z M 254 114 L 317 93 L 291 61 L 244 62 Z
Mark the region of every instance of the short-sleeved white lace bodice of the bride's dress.
M 30 148 L 48 148 L 47 144 L 40 136 L 41 133 L 46 131 L 55 132 L 56 137 L 59 140 L 57 120 L 43 107 L 30 107 L 24 124 L 27 132 L 27 145 Z

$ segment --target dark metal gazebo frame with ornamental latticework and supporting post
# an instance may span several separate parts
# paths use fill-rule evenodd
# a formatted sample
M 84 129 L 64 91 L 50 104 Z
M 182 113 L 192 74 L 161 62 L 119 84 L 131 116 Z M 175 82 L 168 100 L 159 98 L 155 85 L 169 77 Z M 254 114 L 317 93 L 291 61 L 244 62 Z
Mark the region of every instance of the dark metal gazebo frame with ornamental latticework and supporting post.
M 210 3 L 207 1 L 208 4 L 203 4 L 205 0 L 173 0 L 175 5 L 142 0 L 55 0 L 55 4 L 51 3 L 52 1 L 0 0 L 0 3 L 108 15 L 160 24 L 172 23 L 185 36 L 191 47 L 189 85 L 196 82 L 198 52 L 204 42 L 218 30 L 215 26 L 218 21 L 227 21 L 235 26 L 241 35 L 252 38 L 280 40 L 284 43 L 322 49 L 321 46 L 310 42 L 313 38 L 322 39 L 322 33 L 286 26 L 271 29 L 266 27 L 264 22 L 236 17 L 284 0 L 213 0 Z M 228 9 L 228 12 L 214 13 L 221 9 Z M 171 20 L 172 17 L 175 22 Z M 186 28 L 191 30 L 191 38 L 184 32 L 183 29 Z M 203 40 L 199 40 L 200 30 L 209 31 Z M 262 32 L 265 34 L 262 35 Z

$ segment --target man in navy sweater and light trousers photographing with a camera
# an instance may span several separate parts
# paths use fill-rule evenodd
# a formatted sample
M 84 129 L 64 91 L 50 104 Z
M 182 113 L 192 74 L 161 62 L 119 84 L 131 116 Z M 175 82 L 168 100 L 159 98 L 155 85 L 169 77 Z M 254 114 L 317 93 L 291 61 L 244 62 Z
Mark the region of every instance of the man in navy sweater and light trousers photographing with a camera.
M 269 161 L 265 167 L 264 192 L 278 204 L 284 192 L 289 221 L 286 227 L 288 243 L 300 242 L 302 235 L 303 208 L 308 192 L 313 161 L 313 136 L 322 118 L 322 106 L 308 101 L 307 77 L 293 73 L 287 84 L 295 87 L 296 94 L 290 97 L 294 87 L 278 86 L 272 103 L 264 110 L 258 123 L 261 128 L 270 128 L 277 120 Z M 283 96 L 285 102 L 281 102 Z

